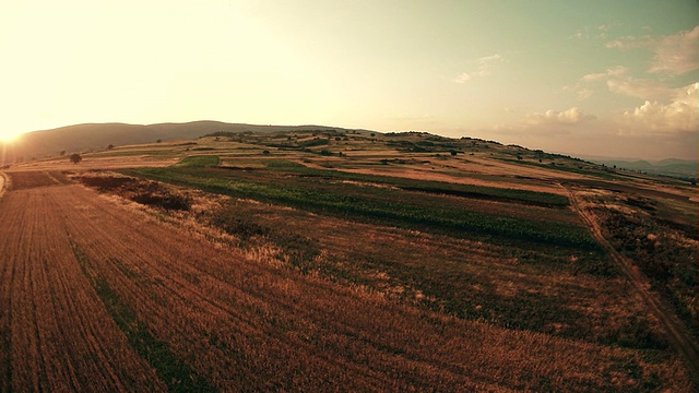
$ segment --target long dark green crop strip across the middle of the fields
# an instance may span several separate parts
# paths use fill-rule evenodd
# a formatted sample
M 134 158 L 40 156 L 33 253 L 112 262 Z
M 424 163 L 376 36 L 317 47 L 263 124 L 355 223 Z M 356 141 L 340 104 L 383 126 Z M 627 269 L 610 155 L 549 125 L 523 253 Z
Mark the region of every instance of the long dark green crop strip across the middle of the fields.
M 534 219 L 464 211 L 445 203 L 442 196 L 416 194 L 413 192 L 414 190 L 367 188 L 352 183 L 337 184 L 317 176 L 312 179 L 304 177 L 293 179 L 274 177 L 272 179 L 265 176 L 270 172 L 262 172 L 261 177 L 257 179 L 249 176 L 241 179 L 236 175 L 237 171 L 225 169 L 170 167 L 127 169 L 122 172 L 196 187 L 209 192 L 250 198 L 315 213 L 364 219 L 371 223 L 383 223 L 460 237 L 475 234 L 498 237 L 503 241 L 533 241 L 600 251 L 599 245 L 580 225 L 565 225 L 555 222 L 542 225 Z M 486 189 L 484 192 L 494 191 L 490 188 L 484 189 Z

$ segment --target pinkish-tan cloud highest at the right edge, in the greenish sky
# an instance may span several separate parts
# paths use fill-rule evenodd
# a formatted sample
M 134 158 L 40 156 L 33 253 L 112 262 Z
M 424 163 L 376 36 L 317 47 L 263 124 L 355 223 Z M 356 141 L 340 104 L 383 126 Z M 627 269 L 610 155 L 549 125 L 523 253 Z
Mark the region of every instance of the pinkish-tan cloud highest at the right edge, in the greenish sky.
M 651 37 L 625 36 L 607 41 L 609 49 L 647 48 L 655 53 L 650 69 L 651 73 L 666 72 L 680 75 L 699 68 L 699 26 L 677 34 Z

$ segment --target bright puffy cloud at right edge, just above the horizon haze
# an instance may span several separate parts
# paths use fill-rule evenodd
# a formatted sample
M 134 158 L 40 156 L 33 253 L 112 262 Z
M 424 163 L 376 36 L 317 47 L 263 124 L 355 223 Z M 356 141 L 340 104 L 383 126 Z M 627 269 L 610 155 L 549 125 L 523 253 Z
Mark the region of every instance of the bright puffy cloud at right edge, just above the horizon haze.
M 670 104 L 645 100 L 624 112 L 628 129 L 639 132 L 676 133 L 699 131 L 699 83 L 675 90 Z

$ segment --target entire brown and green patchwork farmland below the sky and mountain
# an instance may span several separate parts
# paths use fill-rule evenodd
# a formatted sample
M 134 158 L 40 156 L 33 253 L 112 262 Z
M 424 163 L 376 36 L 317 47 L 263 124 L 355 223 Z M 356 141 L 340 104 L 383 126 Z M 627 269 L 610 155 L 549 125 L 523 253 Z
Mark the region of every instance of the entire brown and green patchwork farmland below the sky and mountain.
M 1 390 L 692 390 L 696 190 L 323 132 L 11 168 Z

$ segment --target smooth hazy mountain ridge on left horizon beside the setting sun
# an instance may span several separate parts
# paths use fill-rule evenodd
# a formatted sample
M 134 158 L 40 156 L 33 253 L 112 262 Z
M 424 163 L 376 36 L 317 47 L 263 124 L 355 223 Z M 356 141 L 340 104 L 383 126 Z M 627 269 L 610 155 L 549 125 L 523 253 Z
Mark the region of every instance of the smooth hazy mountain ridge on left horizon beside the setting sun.
M 60 152 L 82 153 L 108 145 L 153 143 L 157 140 L 192 140 L 213 132 L 280 132 L 285 130 L 342 130 L 324 126 L 254 126 L 220 121 L 159 123 L 150 126 L 125 123 L 87 123 L 34 131 L 21 135 L 8 148 L 5 162 L 56 156 Z M 365 130 L 357 130 L 365 131 Z M 2 159 L 2 157 L 0 157 Z

